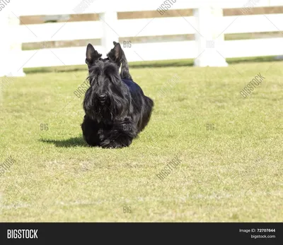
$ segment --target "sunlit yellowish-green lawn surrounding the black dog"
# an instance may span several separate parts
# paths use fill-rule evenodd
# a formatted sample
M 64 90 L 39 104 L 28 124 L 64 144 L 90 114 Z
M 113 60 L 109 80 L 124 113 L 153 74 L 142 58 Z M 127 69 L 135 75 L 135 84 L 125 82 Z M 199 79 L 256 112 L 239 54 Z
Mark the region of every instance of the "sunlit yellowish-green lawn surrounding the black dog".
M 155 108 L 118 150 L 81 138 L 73 92 L 86 70 L 15 78 L 0 107 L 0 162 L 16 160 L 0 177 L 1 221 L 282 222 L 282 65 L 131 68 Z M 265 80 L 244 99 L 258 73 Z M 158 96 L 174 74 L 180 81 Z M 158 179 L 176 156 L 180 165 Z

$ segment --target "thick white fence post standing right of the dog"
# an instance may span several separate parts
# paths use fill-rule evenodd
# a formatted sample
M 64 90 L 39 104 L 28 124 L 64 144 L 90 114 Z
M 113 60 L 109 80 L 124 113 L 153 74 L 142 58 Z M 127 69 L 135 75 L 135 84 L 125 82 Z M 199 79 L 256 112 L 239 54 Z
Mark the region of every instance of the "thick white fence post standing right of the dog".
M 194 9 L 194 16 L 197 23 L 195 66 L 228 66 L 223 54 L 224 34 L 219 30 L 222 9 L 200 6 Z

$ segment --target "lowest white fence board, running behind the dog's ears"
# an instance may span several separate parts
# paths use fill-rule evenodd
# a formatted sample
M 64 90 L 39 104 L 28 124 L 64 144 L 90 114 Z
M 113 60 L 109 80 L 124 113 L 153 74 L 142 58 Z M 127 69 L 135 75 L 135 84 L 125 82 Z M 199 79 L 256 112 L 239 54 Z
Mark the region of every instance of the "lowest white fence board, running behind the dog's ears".
M 105 57 L 107 52 L 103 47 L 95 46 L 95 48 Z M 131 48 L 124 49 L 128 61 L 194 58 L 195 50 L 194 41 L 134 44 Z M 86 64 L 86 47 L 28 50 L 21 53 L 18 66 L 25 64 L 23 68 Z

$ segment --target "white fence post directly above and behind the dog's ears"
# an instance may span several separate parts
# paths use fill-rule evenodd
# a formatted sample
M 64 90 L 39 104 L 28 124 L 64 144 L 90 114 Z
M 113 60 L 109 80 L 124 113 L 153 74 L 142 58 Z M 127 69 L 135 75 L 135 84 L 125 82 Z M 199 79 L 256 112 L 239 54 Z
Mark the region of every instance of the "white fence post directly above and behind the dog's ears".
M 105 11 L 105 13 L 100 13 L 99 18 L 103 28 L 101 44 L 105 49 L 105 53 L 108 53 L 114 47 L 113 41 L 119 42 L 119 35 L 117 33 L 117 12 L 109 9 Z

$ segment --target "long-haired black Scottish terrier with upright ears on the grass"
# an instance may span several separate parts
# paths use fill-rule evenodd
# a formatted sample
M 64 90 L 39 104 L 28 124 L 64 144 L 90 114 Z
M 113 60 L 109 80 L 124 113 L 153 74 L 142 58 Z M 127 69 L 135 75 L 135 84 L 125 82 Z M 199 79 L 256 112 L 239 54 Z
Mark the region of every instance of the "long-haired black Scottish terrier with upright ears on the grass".
M 129 74 L 119 43 L 102 59 L 91 44 L 86 49 L 90 88 L 83 100 L 86 115 L 83 138 L 91 146 L 129 146 L 151 117 L 154 102 L 146 97 Z M 121 67 L 121 73 L 119 73 Z

